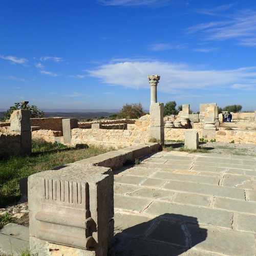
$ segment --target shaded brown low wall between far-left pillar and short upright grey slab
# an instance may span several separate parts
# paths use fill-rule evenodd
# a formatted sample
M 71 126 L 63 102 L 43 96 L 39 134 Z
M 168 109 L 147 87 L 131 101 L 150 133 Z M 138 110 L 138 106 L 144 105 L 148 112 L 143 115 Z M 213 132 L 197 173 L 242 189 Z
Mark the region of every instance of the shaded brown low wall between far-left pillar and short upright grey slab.
M 41 130 L 62 132 L 62 119 L 64 117 L 31 118 L 31 126 L 39 126 Z

